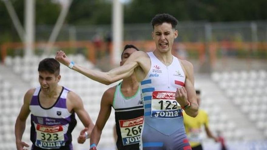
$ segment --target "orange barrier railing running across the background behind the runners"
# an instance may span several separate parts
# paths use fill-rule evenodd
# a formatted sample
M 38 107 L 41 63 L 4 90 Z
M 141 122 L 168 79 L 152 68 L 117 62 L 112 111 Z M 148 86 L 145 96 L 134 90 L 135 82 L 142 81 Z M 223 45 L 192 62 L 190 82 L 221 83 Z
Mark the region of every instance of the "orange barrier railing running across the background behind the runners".
M 33 46 L 43 47 L 47 43 L 45 42 L 36 42 Z M 108 53 L 112 53 L 112 45 L 106 44 L 108 48 Z M 137 46 L 140 50 L 144 50 L 145 52 L 153 51 L 155 49 L 154 41 L 125 41 L 125 44 L 132 44 Z M 173 45 L 173 55 L 177 55 L 177 47 L 182 44 L 185 46 L 186 51 L 196 51 L 198 52 L 198 59 L 199 62 L 202 64 L 205 61 L 206 54 L 210 58 L 211 64 L 216 62 L 216 53 L 219 49 L 226 49 L 228 51 L 238 49 L 249 49 L 250 51 L 259 50 L 259 51 L 267 51 L 267 43 L 266 42 L 229 42 L 229 41 L 222 41 L 222 42 L 174 42 Z M 71 42 L 55 42 L 54 47 L 59 48 L 86 48 L 87 49 L 87 59 L 93 63 L 96 63 L 96 47 L 93 42 L 91 41 L 71 41 Z M 8 48 L 24 48 L 23 43 L 13 42 L 13 43 L 4 43 L 1 45 L 1 57 L 2 62 L 4 62 L 5 57 L 7 55 Z M 101 48 L 101 51 L 103 48 Z M 208 53 L 207 53 L 208 52 Z

